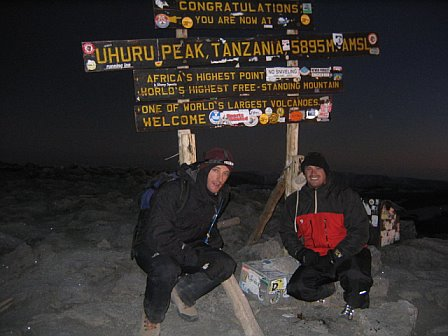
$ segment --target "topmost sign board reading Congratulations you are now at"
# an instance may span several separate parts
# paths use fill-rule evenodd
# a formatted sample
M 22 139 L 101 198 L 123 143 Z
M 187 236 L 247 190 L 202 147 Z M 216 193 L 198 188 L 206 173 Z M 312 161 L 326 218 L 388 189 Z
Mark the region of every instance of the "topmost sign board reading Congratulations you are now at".
M 156 29 L 312 30 L 310 1 L 153 0 Z

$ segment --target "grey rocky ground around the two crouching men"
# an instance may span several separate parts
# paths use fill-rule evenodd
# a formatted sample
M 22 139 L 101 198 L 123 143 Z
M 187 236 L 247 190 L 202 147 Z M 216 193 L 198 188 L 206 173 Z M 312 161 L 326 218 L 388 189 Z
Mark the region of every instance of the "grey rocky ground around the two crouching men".
M 0 165 L 0 336 L 136 335 L 145 275 L 131 261 L 136 200 L 150 172 L 138 168 Z M 241 264 L 285 255 L 278 206 L 262 238 L 248 246 L 271 188 L 232 187 L 221 230 Z M 291 298 L 263 304 L 247 296 L 264 335 L 448 335 L 448 241 L 407 239 L 377 249 L 371 307 L 338 317 L 340 288 L 324 303 Z M 244 335 L 222 287 L 201 298 L 200 320 L 173 306 L 162 335 Z

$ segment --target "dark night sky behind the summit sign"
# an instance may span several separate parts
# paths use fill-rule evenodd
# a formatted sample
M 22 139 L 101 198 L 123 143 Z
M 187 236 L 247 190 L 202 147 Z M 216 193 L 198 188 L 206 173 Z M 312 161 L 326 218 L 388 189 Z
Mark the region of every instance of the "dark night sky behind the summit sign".
M 174 37 L 156 35 L 152 1 L 2 7 L 1 161 L 175 167 L 164 159 L 178 151 L 176 130 L 135 131 L 132 72 L 83 69 L 83 41 Z M 448 2 L 326 0 L 314 10 L 318 32 L 377 32 L 381 55 L 304 62 L 342 65 L 344 92 L 331 122 L 300 124 L 300 154 L 321 151 L 337 171 L 448 180 Z M 198 154 L 227 147 L 237 170 L 284 166 L 284 125 L 191 130 Z

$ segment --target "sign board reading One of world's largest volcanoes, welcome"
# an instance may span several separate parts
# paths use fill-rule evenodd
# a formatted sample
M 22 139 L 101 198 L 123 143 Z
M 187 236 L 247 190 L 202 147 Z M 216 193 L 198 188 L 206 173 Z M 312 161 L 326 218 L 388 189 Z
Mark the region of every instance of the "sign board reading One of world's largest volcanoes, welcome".
M 302 121 L 329 121 L 331 96 L 257 97 L 161 102 L 134 107 L 137 132 L 191 127 L 263 127 Z

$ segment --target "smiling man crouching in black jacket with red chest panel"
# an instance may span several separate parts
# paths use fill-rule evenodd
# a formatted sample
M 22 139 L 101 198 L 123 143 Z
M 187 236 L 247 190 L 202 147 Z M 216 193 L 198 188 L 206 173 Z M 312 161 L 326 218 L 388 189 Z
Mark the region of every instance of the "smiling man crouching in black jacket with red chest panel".
M 320 153 L 308 153 L 301 169 L 307 184 L 286 199 L 280 228 L 285 248 L 301 264 L 287 292 L 318 301 L 332 295 L 340 281 L 346 301 L 341 315 L 351 320 L 355 308 L 369 307 L 373 284 L 367 213 L 356 192 L 336 184 Z

